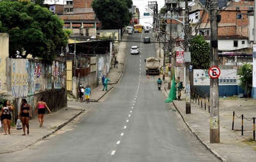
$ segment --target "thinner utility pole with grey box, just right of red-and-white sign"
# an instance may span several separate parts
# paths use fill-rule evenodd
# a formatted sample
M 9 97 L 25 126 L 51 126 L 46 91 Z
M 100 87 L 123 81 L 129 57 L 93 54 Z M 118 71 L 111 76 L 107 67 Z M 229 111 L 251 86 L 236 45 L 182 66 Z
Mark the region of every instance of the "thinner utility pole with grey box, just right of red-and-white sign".
M 188 8 L 188 0 L 185 1 L 185 54 L 189 53 L 189 8 Z M 184 55 L 185 57 L 185 55 Z M 191 99 L 190 99 L 190 80 L 189 80 L 189 62 L 186 61 L 186 114 L 191 114 Z

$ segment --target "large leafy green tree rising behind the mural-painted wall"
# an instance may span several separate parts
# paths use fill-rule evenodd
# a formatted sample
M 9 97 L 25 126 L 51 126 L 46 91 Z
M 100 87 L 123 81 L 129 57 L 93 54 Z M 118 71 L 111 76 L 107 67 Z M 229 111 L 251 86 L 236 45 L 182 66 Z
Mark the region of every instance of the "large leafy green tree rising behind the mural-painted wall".
M 31 54 L 51 64 L 57 49 L 68 43 L 70 31 L 63 30 L 63 20 L 48 8 L 24 1 L 0 1 L 0 15 L 0 33 L 9 34 L 10 57 L 17 57 L 18 50 L 23 58 Z

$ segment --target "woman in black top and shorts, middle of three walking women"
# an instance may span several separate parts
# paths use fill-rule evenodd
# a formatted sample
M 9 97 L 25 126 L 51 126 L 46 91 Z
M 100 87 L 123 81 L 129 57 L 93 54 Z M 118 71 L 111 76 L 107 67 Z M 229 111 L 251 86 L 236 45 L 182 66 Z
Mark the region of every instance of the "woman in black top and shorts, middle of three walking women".
M 20 105 L 20 113 L 18 116 L 18 119 L 20 118 L 22 125 L 23 125 L 23 135 L 26 135 L 26 127 L 28 129 L 29 134 L 29 117 L 32 117 L 32 109 L 31 105 L 28 104 L 26 99 L 21 99 L 22 105 Z

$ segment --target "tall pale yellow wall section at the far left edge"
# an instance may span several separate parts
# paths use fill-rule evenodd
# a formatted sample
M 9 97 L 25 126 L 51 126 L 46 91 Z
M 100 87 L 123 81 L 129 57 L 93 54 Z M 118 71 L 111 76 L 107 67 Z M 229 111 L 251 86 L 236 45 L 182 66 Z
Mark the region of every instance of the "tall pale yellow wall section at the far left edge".
M 6 58 L 9 55 L 9 34 L 0 33 L 0 95 L 7 93 Z

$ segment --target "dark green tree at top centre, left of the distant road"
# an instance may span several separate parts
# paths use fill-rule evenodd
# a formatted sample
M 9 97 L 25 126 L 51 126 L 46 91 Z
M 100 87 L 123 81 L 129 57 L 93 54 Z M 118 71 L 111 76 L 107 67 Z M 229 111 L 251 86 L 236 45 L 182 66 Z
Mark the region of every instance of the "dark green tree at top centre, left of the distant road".
M 131 0 L 93 0 L 92 8 L 103 29 L 122 29 L 132 18 Z

